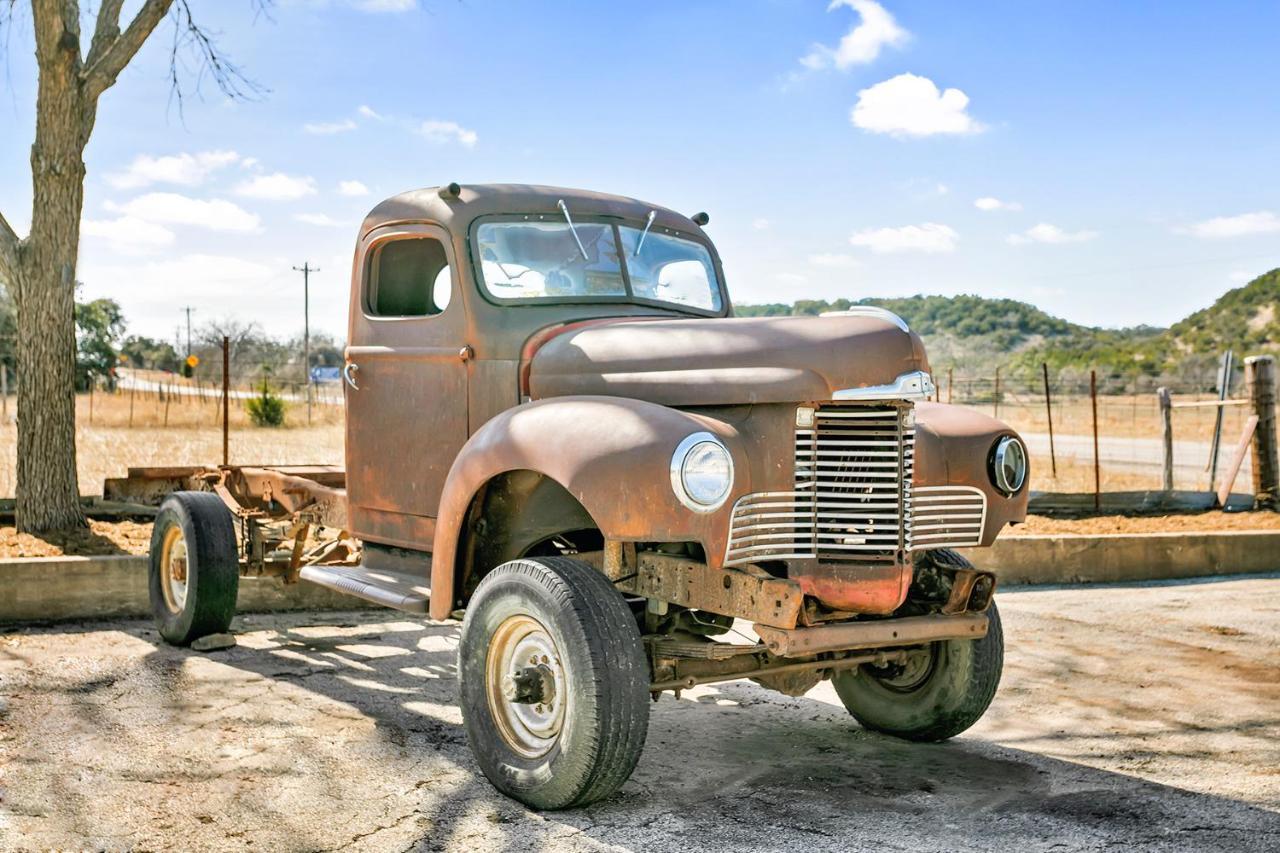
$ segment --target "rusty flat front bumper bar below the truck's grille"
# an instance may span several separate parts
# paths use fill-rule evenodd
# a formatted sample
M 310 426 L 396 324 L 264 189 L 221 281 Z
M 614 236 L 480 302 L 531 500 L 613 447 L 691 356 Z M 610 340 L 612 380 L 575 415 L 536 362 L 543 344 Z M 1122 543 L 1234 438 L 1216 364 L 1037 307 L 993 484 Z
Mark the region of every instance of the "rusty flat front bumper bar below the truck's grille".
M 987 635 L 986 613 L 908 616 L 786 630 L 758 625 L 755 633 L 780 657 L 842 649 L 919 646 L 945 639 L 980 639 Z

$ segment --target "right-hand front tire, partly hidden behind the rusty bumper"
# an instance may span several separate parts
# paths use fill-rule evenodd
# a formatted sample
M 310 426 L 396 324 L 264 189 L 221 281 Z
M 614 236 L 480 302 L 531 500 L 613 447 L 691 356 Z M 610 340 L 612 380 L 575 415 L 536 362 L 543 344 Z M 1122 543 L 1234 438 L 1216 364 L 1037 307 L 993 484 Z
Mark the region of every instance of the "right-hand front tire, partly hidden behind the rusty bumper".
M 987 711 L 1005 665 L 1000 611 L 987 608 L 987 635 L 931 643 L 906 665 L 861 666 L 832 684 L 864 727 L 908 740 L 946 740 Z

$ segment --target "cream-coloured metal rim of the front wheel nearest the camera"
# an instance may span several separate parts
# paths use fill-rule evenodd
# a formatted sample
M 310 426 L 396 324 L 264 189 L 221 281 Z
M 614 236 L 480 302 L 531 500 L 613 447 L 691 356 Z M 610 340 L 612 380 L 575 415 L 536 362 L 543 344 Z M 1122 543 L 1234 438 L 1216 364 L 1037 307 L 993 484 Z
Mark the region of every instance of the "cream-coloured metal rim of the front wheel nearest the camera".
M 517 676 L 535 675 L 539 701 L 516 701 Z M 559 649 L 541 622 L 518 615 L 498 625 L 485 660 L 485 693 L 498 733 L 515 752 L 538 758 L 556 745 L 568 704 L 564 681 Z

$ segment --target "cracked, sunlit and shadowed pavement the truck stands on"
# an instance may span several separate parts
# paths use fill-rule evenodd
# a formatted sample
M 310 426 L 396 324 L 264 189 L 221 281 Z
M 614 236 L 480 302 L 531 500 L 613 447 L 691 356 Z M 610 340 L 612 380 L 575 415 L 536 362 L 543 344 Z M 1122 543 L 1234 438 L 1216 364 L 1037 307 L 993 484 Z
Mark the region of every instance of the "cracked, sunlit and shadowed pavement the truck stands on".
M 0 634 L 0 849 L 1280 849 L 1280 578 L 1000 605 L 1004 684 L 951 743 L 863 731 L 828 685 L 707 686 L 653 707 L 618 795 L 547 815 L 471 761 L 456 625 Z

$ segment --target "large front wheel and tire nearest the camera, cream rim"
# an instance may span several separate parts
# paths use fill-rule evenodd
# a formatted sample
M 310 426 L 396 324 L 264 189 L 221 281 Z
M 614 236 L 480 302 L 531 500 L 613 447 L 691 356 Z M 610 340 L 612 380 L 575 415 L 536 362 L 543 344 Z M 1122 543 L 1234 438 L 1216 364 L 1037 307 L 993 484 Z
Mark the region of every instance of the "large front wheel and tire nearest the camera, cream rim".
M 635 770 L 649 665 L 630 607 L 596 569 L 538 557 L 489 573 L 467 605 L 458 679 L 471 752 L 508 797 L 585 806 Z

